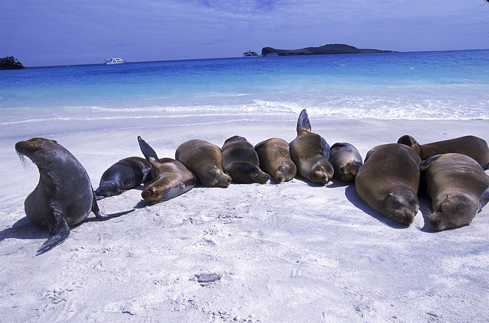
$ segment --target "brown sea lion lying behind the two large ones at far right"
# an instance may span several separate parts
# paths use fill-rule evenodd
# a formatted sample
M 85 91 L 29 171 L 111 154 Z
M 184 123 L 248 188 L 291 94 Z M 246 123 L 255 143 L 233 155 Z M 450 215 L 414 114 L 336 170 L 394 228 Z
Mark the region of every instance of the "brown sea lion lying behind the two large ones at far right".
M 423 161 L 435 155 L 457 153 L 473 158 L 476 162 L 481 163 L 483 167 L 489 163 L 488 143 L 484 139 L 475 136 L 464 136 L 419 144 L 413 137 L 404 135 L 399 138 L 398 143 L 413 148 Z

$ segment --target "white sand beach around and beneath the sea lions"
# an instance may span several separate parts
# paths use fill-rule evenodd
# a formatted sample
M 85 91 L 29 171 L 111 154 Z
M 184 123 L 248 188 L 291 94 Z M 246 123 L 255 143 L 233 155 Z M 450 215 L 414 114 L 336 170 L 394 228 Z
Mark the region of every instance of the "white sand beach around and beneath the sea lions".
M 489 129 L 489 120 L 310 119 L 330 145 L 350 142 L 362 157 L 405 134 L 420 143 L 487 140 Z M 37 136 L 66 147 L 96 188 L 114 162 L 142 157 L 137 136 L 174 158 L 190 139 L 291 141 L 295 126 L 239 121 Z M 24 214 L 39 179 L 14 149 L 27 139 L 0 145 L 0 322 L 489 321 L 489 207 L 470 225 L 435 232 L 423 218 L 428 197 L 405 226 L 373 211 L 354 184 L 334 180 L 196 186 L 155 205 L 136 188 L 99 201 L 105 213 L 134 212 L 72 227 L 64 243 L 35 256 L 48 231 Z

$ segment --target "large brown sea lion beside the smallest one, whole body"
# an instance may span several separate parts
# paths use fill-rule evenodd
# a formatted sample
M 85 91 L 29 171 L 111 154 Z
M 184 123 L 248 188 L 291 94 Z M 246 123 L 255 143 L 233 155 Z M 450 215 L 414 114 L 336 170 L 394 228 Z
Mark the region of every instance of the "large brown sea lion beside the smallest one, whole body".
M 356 174 L 356 192 L 377 212 L 410 224 L 419 210 L 420 165 L 420 156 L 406 145 L 374 147 Z

